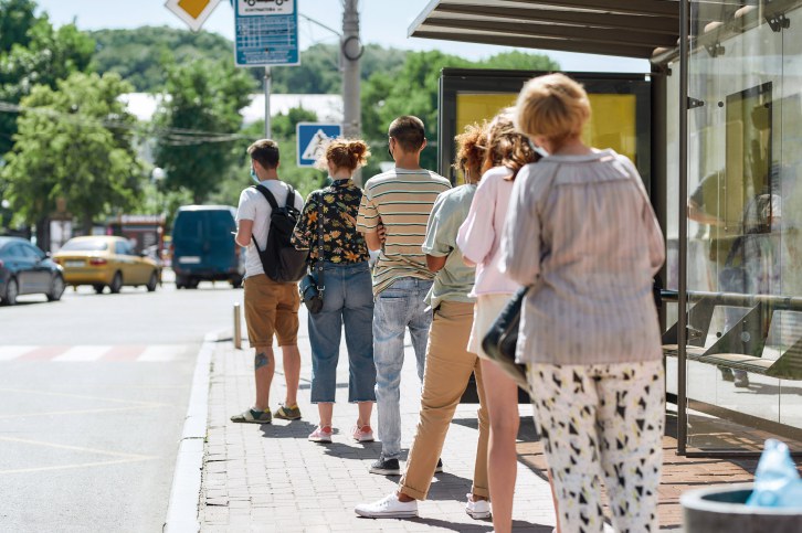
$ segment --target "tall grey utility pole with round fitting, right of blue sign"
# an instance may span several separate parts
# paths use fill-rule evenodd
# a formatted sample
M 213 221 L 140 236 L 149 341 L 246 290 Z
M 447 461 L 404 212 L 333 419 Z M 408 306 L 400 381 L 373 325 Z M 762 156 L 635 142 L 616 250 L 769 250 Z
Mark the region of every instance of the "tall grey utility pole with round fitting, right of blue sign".
M 359 58 L 363 52 L 359 39 L 359 0 L 342 0 L 342 132 L 346 138 L 358 139 L 362 129 Z M 353 180 L 358 185 L 362 184 L 359 172 L 355 173 Z

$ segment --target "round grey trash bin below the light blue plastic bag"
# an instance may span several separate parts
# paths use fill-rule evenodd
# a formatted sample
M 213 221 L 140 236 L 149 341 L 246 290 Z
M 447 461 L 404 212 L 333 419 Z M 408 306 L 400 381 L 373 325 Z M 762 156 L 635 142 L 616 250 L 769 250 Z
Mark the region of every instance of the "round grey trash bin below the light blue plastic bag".
M 692 490 L 682 495 L 685 533 L 799 533 L 802 509 L 745 505 L 752 483 Z

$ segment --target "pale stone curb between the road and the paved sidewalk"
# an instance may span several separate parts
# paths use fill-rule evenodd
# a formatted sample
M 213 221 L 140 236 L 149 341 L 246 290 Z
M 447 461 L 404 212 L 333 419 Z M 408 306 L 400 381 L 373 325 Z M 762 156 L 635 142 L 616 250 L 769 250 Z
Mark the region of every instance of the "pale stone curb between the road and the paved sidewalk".
M 189 406 L 176 457 L 176 471 L 172 476 L 167 518 L 161 529 L 163 532 L 200 531 L 198 503 L 209 414 L 209 381 L 212 353 L 214 343 L 218 341 L 217 333 L 207 334 L 198 353 Z

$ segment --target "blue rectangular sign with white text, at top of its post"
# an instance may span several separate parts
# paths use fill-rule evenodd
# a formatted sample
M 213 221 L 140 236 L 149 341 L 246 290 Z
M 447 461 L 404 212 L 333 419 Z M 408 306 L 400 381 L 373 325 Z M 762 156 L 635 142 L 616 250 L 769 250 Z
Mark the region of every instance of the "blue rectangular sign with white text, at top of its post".
M 236 66 L 297 65 L 298 0 L 234 0 Z

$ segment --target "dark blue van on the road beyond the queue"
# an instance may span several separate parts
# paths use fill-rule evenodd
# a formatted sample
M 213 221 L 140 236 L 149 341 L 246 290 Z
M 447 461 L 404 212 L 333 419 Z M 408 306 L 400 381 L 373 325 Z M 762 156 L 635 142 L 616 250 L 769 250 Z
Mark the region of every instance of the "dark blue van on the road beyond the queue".
M 245 249 L 234 243 L 236 210 L 230 205 L 184 205 L 172 224 L 172 270 L 177 289 L 203 280 L 242 286 Z

